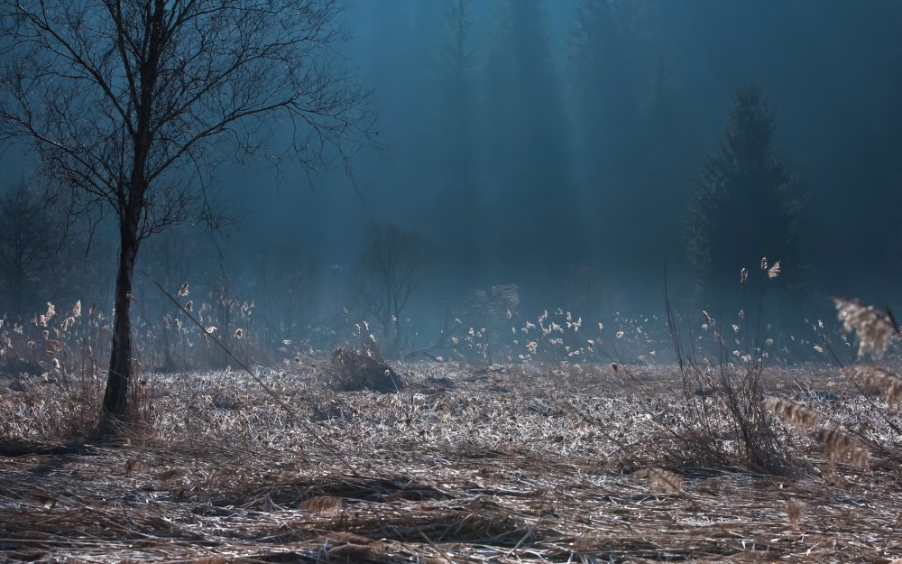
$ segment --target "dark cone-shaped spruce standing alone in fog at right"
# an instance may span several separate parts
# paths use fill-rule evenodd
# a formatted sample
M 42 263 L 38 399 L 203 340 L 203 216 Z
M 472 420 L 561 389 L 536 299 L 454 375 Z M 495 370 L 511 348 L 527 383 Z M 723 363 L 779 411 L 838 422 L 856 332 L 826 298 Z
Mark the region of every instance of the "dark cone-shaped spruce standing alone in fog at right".
M 740 88 L 720 151 L 702 167 L 685 221 L 689 260 L 709 289 L 735 287 L 741 269 L 757 268 L 763 256 L 781 262 L 785 286 L 801 281 L 802 203 L 774 146 L 776 129 L 760 88 Z

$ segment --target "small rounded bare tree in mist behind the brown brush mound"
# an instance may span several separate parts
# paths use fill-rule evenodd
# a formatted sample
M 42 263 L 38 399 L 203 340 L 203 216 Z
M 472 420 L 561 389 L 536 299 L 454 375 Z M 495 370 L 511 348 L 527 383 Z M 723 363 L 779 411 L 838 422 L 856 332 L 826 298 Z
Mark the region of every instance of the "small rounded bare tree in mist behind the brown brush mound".
M 423 280 L 427 243 L 419 234 L 373 223 L 360 255 L 360 297 L 364 310 L 382 326 L 382 351 L 397 356 L 406 344 L 400 314 Z

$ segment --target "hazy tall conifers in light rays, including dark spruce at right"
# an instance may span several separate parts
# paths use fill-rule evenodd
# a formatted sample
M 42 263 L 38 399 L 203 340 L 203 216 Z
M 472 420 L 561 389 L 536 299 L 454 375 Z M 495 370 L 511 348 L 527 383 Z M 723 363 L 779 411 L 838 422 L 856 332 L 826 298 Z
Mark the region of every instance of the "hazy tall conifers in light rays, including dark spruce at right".
M 680 77 L 656 43 L 666 9 L 581 0 L 559 57 L 542 0 L 494 2 L 479 13 L 491 32 L 478 43 L 473 3 L 444 5 L 428 75 L 437 97 L 419 109 L 439 131 L 419 147 L 431 166 L 410 174 L 440 174 L 448 215 L 466 217 L 453 239 L 467 249 L 461 262 L 491 271 L 483 255 L 522 265 L 533 249 L 554 249 L 540 261 L 557 261 L 549 268 L 570 285 L 591 281 L 582 293 L 594 307 L 612 264 L 656 264 L 658 277 L 667 264 L 723 294 L 736 291 L 736 264 L 769 254 L 801 287 L 804 200 L 764 94 L 737 90 L 723 149 L 705 163 Z

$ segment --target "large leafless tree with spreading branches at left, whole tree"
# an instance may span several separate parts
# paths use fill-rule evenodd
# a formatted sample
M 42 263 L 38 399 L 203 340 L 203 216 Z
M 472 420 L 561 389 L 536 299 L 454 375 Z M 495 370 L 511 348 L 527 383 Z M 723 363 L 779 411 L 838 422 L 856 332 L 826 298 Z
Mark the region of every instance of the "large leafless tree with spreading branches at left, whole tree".
M 0 0 L 0 139 L 30 144 L 77 211 L 119 231 L 100 431 L 128 421 L 135 257 L 144 239 L 216 225 L 222 162 L 345 167 L 373 145 L 367 92 L 336 43 L 337 0 Z M 282 143 L 280 143 L 280 141 Z

